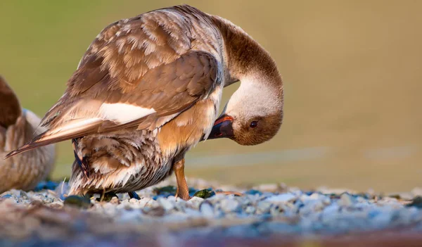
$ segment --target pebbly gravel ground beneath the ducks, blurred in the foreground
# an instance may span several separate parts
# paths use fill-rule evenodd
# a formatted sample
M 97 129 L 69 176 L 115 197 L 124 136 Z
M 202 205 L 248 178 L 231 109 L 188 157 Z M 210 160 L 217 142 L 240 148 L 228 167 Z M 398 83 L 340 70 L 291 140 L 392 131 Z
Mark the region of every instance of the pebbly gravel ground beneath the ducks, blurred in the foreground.
M 336 246 L 329 242 L 333 236 L 362 241 L 374 232 L 422 235 L 422 189 L 383 196 L 344 189 L 301 191 L 284 184 L 236 188 L 188 179 L 193 188 L 244 196 L 201 191 L 210 197 L 182 201 L 174 198 L 172 184 L 170 179 L 138 191 L 141 200 L 127 194 L 103 201 L 98 196 L 64 200 L 67 183 L 7 191 L 0 195 L 0 246 L 271 246 L 273 241 L 277 246 L 298 241 Z M 413 240 L 422 244 L 422 237 Z

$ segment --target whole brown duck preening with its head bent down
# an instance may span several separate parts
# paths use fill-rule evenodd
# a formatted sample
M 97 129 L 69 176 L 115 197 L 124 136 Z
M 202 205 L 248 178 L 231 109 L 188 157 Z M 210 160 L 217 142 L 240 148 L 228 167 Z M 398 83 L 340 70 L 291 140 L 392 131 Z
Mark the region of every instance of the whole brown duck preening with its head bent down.
M 217 119 L 222 91 L 235 82 Z M 186 152 L 210 134 L 260 144 L 282 119 L 270 54 L 229 20 L 172 6 L 104 28 L 41 120 L 47 130 L 5 158 L 71 139 L 69 194 L 131 195 L 174 173 L 176 196 L 188 200 Z

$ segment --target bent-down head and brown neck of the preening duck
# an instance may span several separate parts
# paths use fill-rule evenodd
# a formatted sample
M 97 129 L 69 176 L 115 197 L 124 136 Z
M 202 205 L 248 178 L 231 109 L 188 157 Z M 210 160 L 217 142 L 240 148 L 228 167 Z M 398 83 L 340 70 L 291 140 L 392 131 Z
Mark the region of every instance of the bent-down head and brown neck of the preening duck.
M 229 138 L 241 145 L 257 145 L 273 138 L 283 120 L 283 81 L 270 54 L 240 27 L 212 15 L 224 39 L 224 87 L 234 92 L 207 139 Z

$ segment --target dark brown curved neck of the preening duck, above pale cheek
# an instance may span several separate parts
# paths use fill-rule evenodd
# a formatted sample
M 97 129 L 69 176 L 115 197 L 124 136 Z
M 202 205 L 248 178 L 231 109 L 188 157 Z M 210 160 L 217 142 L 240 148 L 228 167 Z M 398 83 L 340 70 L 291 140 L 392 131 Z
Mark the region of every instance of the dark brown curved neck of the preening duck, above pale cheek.
M 212 20 L 219 28 L 226 50 L 226 86 L 237 81 L 266 83 L 283 93 L 283 82 L 276 63 L 269 53 L 245 31 L 216 15 Z

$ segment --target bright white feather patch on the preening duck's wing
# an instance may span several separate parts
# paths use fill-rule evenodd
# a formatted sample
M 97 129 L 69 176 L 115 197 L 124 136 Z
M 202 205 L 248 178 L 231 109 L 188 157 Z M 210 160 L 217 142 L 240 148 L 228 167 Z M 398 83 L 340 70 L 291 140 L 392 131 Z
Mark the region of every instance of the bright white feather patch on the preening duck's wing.
M 100 118 L 123 125 L 139 118 L 155 113 L 154 108 L 142 108 L 126 103 L 103 103 L 100 107 Z

